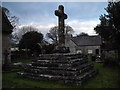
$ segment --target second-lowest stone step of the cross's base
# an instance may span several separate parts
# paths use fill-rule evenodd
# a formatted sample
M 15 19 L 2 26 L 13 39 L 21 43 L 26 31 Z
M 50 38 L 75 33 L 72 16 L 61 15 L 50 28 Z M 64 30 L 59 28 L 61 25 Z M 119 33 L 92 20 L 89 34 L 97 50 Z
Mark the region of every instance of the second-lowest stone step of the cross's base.
M 62 67 L 62 69 L 60 69 L 60 67 L 58 67 L 58 69 L 56 69 L 56 67 L 54 67 L 54 69 L 50 68 L 50 67 L 31 67 L 31 68 L 26 68 L 25 72 L 28 73 L 34 73 L 34 74 L 53 74 L 53 75 L 62 75 L 62 76 L 67 76 L 67 75 L 80 75 L 81 73 L 85 73 L 89 70 L 91 70 L 93 68 L 93 66 L 91 64 L 86 64 L 81 65 L 81 67 L 79 67 L 81 69 L 77 69 L 77 68 L 69 68 L 69 69 L 65 69 Z

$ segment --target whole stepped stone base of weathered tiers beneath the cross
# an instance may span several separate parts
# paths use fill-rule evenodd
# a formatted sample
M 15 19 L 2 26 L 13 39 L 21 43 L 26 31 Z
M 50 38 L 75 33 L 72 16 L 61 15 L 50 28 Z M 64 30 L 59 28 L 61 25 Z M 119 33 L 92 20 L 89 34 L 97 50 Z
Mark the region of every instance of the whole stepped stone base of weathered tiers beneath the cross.
M 98 73 L 81 54 L 43 54 L 18 75 L 36 80 L 81 85 Z

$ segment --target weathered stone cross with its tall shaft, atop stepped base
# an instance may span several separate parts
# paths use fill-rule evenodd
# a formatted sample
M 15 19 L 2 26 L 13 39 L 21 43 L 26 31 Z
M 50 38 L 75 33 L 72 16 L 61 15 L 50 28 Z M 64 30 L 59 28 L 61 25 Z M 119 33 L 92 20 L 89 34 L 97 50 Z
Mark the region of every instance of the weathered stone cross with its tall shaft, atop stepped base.
M 55 15 L 58 16 L 58 40 L 59 45 L 65 44 L 65 31 L 64 31 L 64 19 L 67 19 L 67 15 L 64 13 L 64 6 L 59 5 L 58 10 L 55 10 Z

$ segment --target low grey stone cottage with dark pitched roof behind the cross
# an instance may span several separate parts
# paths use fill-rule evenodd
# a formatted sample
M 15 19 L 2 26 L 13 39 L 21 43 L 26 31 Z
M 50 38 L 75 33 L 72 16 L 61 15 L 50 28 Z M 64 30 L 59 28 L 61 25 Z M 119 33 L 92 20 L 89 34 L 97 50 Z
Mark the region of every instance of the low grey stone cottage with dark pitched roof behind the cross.
M 70 53 L 101 54 L 101 45 L 101 37 L 98 35 L 77 37 L 67 35 L 65 40 L 65 46 L 69 47 Z

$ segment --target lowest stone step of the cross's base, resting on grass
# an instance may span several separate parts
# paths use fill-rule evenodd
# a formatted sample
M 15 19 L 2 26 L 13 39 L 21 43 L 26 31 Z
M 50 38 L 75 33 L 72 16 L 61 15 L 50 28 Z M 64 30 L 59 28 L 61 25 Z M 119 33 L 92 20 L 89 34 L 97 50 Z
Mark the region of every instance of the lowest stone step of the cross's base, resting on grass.
M 18 73 L 19 75 L 31 79 L 37 79 L 37 80 L 51 80 L 51 81 L 57 81 L 57 82 L 63 82 L 63 83 L 72 83 L 72 84 L 81 84 L 87 81 L 89 78 L 96 75 L 97 71 L 95 69 L 86 72 L 83 75 L 80 76 L 56 76 L 56 75 L 47 75 L 47 74 L 31 74 L 31 73 Z

